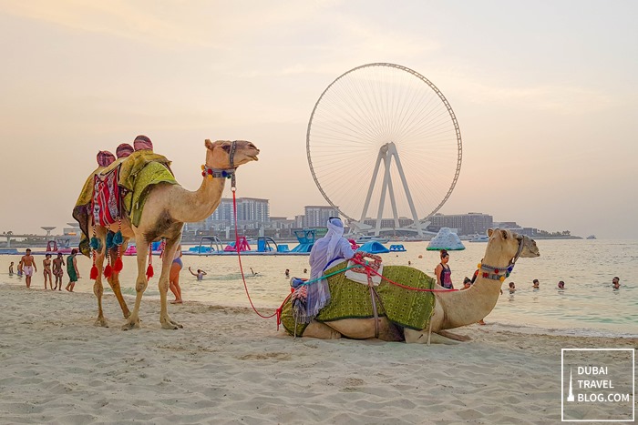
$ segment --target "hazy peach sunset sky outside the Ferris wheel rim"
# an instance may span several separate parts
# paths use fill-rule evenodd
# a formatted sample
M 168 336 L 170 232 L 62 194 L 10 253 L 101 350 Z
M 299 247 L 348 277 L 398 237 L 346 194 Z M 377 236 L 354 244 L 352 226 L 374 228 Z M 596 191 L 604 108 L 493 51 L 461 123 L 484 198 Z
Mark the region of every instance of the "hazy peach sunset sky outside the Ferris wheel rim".
M 636 16 L 633 0 L 0 0 L 0 232 L 61 230 L 98 150 L 138 134 L 190 189 L 205 138 L 251 140 L 238 197 L 290 218 L 325 205 L 305 153 L 314 103 L 392 62 L 458 117 L 440 212 L 638 238 Z

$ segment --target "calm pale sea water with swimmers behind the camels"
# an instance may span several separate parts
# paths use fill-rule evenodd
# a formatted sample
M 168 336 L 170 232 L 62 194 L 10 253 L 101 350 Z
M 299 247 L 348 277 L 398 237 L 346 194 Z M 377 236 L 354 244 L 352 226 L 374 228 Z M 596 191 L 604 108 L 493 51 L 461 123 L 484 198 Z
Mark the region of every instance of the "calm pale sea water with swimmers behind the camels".
M 487 247 L 487 243 L 464 243 L 465 250 L 450 251 L 449 266 L 456 288 L 462 287 L 463 278 L 471 278 Z M 503 295 L 485 319 L 489 326 L 523 332 L 638 337 L 638 240 L 540 239 L 537 244 L 540 257 L 520 258 L 503 283 Z M 434 276 L 438 252 L 427 251 L 427 242 L 403 242 L 403 245 L 406 252 L 383 254 L 384 264 L 406 266 L 409 261 L 412 267 Z M 38 272 L 32 288 L 44 288 L 42 259 L 36 257 Z M 8 276 L 10 261 L 16 265 L 19 256 L 0 256 L 2 281 L 24 285 L 24 277 Z M 252 303 L 263 315 L 272 314 L 290 293 L 290 278 L 284 275 L 286 268 L 290 269 L 291 277 L 310 276 L 307 256 L 184 256 L 182 261 L 183 299 L 250 307 L 247 288 Z M 82 278 L 76 291 L 92 292 L 93 282 L 88 279 L 91 260 L 78 257 L 78 265 Z M 160 258 L 153 258 L 153 266 L 155 277 L 150 279 L 145 299 L 160 298 L 157 286 Z M 208 274 L 198 281 L 189 267 L 193 271 L 201 268 Z M 125 257 L 120 280 L 127 296 L 135 295 L 136 275 L 135 258 Z M 612 288 L 614 276 L 621 278 L 619 290 Z M 534 278 L 540 280 L 539 289 L 532 288 Z M 565 282 L 564 290 L 557 288 L 559 280 Z M 509 282 L 516 284 L 514 293 L 509 293 Z M 67 284 L 66 272 L 64 283 Z M 108 284 L 105 287 L 108 293 Z M 173 299 L 171 293 L 169 299 Z M 178 315 L 180 309 L 188 309 L 188 304 L 170 307 Z

